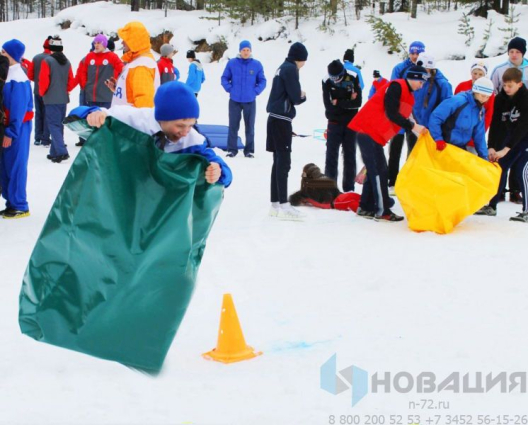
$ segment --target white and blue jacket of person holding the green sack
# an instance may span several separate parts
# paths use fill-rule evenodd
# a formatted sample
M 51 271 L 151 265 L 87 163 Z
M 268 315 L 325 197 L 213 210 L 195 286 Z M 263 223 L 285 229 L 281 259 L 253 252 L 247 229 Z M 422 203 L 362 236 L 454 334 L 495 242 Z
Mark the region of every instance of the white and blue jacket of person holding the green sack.
M 156 121 L 156 118 L 154 117 L 154 108 L 134 108 L 133 106 L 128 105 L 116 106 L 109 109 L 79 106 L 73 109 L 70 112 L 70 115 L 77 115 L 80 118 L 86 118 L 90 112 L 96 110 L 105 111 L 109 116 L 114 117 L 149 136 L 155 136 L 162 131 L 159 122 Z M 224 160 L 207 145 L 206 138 L 194 128 L 191 129 L 189 134 L 182 137 L 177 142 L 172 143 L 171 141 L 168 141 L 168 143 L 163 146 L 163 150 L 167 153 L 200 155 L 209 162 L 216 162 L 220 165 L 222 174 L 220 175 L 217 184 L 228 187 L 233 180 L 231 169 L 227 166 Z

